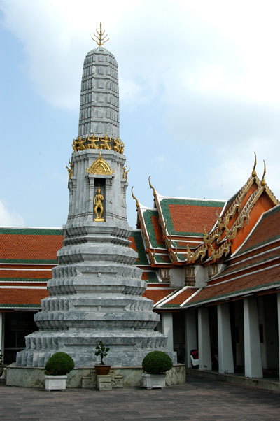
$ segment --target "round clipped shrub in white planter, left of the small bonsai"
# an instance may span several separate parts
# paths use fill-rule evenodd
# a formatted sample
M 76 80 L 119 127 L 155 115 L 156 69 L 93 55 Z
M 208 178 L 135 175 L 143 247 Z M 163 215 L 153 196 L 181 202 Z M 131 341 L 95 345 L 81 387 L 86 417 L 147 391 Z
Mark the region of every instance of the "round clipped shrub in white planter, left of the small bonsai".
M 67 374 L 73 370 L 75 364 L 70 355 L 65 352 L 56 352 L 45 364 L 45 389 L 66 389 Z

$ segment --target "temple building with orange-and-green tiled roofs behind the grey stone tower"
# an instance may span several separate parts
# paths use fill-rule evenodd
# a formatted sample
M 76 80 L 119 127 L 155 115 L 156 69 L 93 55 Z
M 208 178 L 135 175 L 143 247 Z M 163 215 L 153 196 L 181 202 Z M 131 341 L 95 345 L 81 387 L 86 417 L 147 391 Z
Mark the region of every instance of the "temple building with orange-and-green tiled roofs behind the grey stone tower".
M 200 370 L 261 378 L 279 371 L 280 206 L 255 166 L 228 201 L 164 197 L 137 204 L 130 247 L 160 315 L 167 347 Z M 134 194 L 133 194 L 134 195 Z M 6 364 L 34 331 L 48 296 L 62 229 L 4 228 L 1 235 L 1 344 Z

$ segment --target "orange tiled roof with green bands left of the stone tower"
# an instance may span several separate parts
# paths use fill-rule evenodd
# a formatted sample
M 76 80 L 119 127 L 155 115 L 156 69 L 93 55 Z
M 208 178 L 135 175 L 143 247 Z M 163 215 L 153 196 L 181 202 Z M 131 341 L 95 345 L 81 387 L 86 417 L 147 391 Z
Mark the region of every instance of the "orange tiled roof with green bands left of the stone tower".
M 0 227 L 0 308 L 41 308 L 62 229 Z

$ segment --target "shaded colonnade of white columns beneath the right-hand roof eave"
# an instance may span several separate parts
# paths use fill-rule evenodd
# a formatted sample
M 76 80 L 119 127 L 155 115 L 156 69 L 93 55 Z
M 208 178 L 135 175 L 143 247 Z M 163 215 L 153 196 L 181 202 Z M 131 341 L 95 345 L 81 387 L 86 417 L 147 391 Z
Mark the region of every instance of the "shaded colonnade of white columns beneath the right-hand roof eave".
M 272 310 L 269 308 L 271 301 L 267 301 L 264 306 L 262 298 L 258 299 L 253 294 L 242 299 L 243 306 L 239 301 L 237 307 L 239 313 L 243 307 L 243 314 L 235 315 L 235 319 L 239 320 L 239 324 L 241 324 L 239 327 L 236 327 L 235 321 L 232 321 L 229 301 L 216 304 L 215 321 L 209 320 L 209 307 L 207 306 L 187 309 L 184 314 L 186 365 L 192 367 L 190 351 L 197 349 L 199 351 L 199 370 L 212 370 L 213 350 L 211 347 L 213 344 L 211 343 L 210 326 L 213 328 L 213 323 L 216 323 L 219 373 L 235 373 L 235 366 L 241 362 L 241 365 L 244 365 L 245 377 L 262 378 L 263 368 L 279 367 L 280 293 L 276 294 L 273 299 L 276 299 L 276 313 L 271 313 Z M 275 301 L 273 303 L 275 306 Z M 265 309 L 261 308 L 261 304 Z M 241 338 L 238 338 L 238 343 L 232 343 L 233 338 L 237 338 L 236 332 L 232 334 L 232 329 L 239 329 Z M 173 350 L 171 312 L 162 313 L 162 333 L 168 336 L 167 348 Z

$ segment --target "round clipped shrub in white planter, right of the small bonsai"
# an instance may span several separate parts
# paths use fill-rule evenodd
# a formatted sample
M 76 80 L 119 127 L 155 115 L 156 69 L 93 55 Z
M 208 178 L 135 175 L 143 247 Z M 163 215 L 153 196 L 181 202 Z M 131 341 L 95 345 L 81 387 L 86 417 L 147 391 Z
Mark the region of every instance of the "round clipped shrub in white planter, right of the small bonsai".
M 166 372 L 173 367 L 172 359 L 165 352 L 149 352 L 142 361 L 144 369 L 144 387 L 154 389 L 155 387 L 165 387 Z

